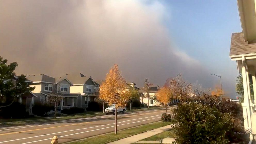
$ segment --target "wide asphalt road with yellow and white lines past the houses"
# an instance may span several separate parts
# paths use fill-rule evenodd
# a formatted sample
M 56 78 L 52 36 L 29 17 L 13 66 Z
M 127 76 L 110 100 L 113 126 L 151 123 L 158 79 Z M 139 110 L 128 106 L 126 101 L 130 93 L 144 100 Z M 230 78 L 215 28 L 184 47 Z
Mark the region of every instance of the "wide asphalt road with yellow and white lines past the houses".
M 170 107 L 168 108 L 170 109 Z M 159 121 L 165 109 L 144 110 L 117 115 L 117 129 L 139 126 Z M 33 123 L 23 126 L 1 127 L 0 144 L 47 144 L 54 135 L 59 143 L 79 140 L 99 134 L 113 132 L 114 115 L 78 118 L 58 122 Z

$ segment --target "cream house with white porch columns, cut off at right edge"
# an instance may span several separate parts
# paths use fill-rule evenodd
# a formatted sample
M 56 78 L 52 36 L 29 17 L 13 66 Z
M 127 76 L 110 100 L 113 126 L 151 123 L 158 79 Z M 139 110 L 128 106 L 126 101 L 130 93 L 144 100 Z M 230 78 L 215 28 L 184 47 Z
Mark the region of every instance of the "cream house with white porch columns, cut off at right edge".
M 256 1 L 237 0 L 242 32 L 231 35 L 229 57 L 236 61 L 237 69 L 243 77 L 244 102 L 242 102 L 244 128 L 250 131 L 250 143 L 256 134 Z M 253 84 L 253 97 L 250 93 L 250 81 Z

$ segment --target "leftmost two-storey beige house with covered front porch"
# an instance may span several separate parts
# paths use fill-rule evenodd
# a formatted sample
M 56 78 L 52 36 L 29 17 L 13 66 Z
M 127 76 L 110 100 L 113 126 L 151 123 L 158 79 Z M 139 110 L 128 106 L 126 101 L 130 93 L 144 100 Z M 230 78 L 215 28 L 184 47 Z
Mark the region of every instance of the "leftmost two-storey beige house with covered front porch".
M 48 102 L 47 96 L 51 93 L 59 93 L 61 102 L 58 104 L 60 110 L 71 107 L 81 107 L 79 98 L 81 94 L 79 92 L 70 93 L 70 87 L 73 85 L 67 78 L 59 77 L 53 78 L 44 74 L 29 75 L 27 78 L 32 81 L 32 87 L 35 89 L 32 91 L 36 98 L 33 98 L 33 103 Z

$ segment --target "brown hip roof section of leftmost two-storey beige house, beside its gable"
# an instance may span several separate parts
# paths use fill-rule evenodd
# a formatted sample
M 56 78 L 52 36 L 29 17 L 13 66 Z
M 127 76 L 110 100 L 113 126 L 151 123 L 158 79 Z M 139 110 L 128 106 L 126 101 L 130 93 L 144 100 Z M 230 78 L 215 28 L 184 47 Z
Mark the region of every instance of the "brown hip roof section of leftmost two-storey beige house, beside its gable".
M 40 82 L 48 82 L 48 83 L 55 83 L 55 78 L 47 76 L 45 74 L 40 75 L 28 75 L 27 79 L 29 81 L 33 81 L 33 83 L 40 83 Z

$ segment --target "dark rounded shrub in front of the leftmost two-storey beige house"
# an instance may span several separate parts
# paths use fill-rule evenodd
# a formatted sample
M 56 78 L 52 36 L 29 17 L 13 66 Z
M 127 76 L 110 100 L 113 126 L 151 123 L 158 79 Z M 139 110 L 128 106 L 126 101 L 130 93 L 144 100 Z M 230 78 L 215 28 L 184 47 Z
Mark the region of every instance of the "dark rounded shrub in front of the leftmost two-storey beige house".
M 54 110 L 54 106 L 42 103 L 35 103 L 35 105 L 32 107 L 32 113 L 38 116 L 44 116 L 51 110 Z

